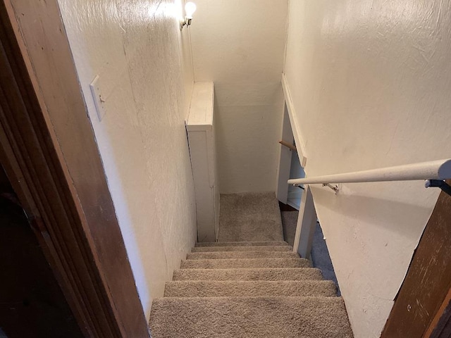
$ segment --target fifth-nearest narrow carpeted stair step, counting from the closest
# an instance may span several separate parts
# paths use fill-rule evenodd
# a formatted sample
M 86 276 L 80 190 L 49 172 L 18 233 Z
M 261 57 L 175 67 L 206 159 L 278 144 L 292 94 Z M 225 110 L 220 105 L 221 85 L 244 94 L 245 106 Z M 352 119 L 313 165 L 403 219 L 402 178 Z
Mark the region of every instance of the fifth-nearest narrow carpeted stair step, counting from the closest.
M 218 251 L 188 253 L 186 259 L 299 258 L 292 251 Z

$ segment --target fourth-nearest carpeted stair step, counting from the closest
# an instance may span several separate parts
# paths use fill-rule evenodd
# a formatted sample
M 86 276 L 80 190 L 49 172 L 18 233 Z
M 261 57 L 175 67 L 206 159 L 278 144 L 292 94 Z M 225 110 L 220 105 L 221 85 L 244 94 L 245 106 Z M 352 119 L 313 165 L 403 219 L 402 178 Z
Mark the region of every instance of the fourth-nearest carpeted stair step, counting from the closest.
M 182 261 L 181 269 L 230 269 L 230 268 L 311 268 L 305 258 L 235 258 L 235 259 L 188 259 Z

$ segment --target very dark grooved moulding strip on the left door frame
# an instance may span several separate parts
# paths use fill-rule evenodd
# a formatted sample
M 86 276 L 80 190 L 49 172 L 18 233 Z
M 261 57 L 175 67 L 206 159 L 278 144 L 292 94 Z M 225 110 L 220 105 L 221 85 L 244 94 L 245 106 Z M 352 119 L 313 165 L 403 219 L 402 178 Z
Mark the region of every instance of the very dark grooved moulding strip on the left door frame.
M 61 176 L 64 175 L 61 167 L 58 168 L 53 144 L 44 134 L 45 125 L 41 128 L 43 121 L 37 119 L 39 104 L 30 88 L 30 82 L 25 78 L 23 64 L 20 65 L 20 52 L 13 44 L 11 30 L 7 31 L 8 18 L 4 16 L 4 8 L 0 12 L 0 123 L 4 132 L 2 139 L 6 141 L 2 148 L 9 164 L 7 168 L 20 168 L 18 175 L 24 179 L 20 184 L 20 195 L 32 198 L 25 201 L 25 208 L 34 211 L 29 217 L 45 239 L 47 252 L 53 258 L 53 268 L 58 271 L 58 280 L 62 282 L 61 287 L 80 327 L 88 336 L 107 337 L 111 334 L 111 337 L 119 337 L 109 330 L 108 325 L 94 325 L 94 321 L 104 324 L 111 320 L 92 320 L 97 313 L 104 313 L 105 309 L 101 307 L 100 301 L 103 296 L 97 293 L 96 276 L 88 273 L 82 277 L 79 273 L 92 270 L 92 267 L 84 264 L 89 253 L 86 248 L 78 246 L 80 231 L 70 226 L 80 224 L 78 212 L 66 199 L 71 194 L 68 187 L 61 184 Z M 8 177 L 13 176 L 11 171 L 6 170 Z M 17 186 L 17 181 L 15 183 Z M 89 280 L 90 285 L 82 285 L 80 281 L 83 279 Z M 109 312 L 106 311 L 105 315 Z

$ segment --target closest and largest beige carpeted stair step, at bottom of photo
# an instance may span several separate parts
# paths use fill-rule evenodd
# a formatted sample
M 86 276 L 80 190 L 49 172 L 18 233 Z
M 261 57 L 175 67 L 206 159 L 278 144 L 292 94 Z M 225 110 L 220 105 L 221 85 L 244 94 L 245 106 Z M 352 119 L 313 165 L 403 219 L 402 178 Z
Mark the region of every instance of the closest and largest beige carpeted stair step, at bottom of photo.
M 341 297 L 154 299 L 153 338 L 352 337 Z

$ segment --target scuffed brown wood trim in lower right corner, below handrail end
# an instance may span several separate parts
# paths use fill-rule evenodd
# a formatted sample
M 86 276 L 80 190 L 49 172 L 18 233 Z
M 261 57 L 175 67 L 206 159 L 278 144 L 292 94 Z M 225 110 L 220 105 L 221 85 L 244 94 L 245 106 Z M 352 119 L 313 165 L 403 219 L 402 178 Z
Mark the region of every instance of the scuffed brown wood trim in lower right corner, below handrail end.
M 451 287 L 450 211 L 451 196 L 441 192 L 381 337 L 430 337 L 434 318 L 446 308 L 442 304 Z

